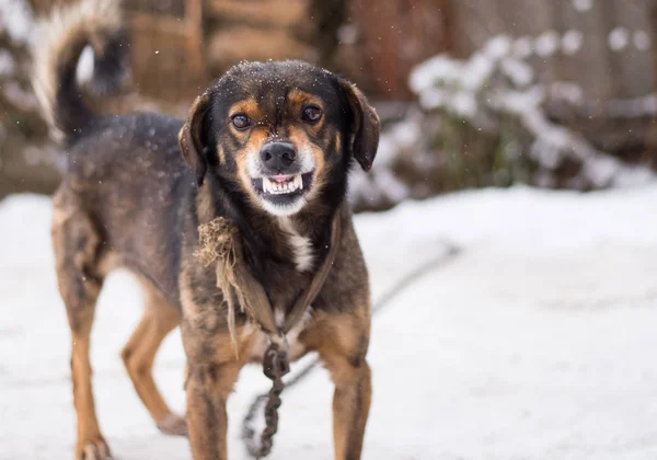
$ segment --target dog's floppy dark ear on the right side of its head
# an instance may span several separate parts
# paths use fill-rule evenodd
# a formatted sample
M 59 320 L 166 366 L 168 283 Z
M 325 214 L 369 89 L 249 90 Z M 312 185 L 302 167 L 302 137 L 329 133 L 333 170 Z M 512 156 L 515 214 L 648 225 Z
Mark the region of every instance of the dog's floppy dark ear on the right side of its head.
M 379 116 L 365 97 L 365 94 L 353 83 L 341 79 L 339 84 L 353 114 L 351 153 L 364 171 L 372 168 L 372 162 L 379 147 Z

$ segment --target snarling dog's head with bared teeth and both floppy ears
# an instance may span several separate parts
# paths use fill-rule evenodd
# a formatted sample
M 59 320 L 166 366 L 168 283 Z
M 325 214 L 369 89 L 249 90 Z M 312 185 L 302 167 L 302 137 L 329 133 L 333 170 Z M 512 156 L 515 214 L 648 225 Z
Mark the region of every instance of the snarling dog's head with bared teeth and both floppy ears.
M 180 135 L 198 185 L 215 174 L 277 216 L 290 216 L 371 168 L 379 118 L 348 81 L 300 61 L 230 69 L 194 103 Z

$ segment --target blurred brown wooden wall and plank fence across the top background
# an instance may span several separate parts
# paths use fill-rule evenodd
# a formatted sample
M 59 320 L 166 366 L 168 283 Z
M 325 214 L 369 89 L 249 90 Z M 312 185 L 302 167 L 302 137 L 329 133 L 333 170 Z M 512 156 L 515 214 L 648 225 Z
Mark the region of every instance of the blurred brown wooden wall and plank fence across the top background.
M 151 85 L 166 73 L 211 79 L 241 59 L 289 57 L 353 73 L 381 97 L 410 99 L 413 66 L 439 53 L 466 57 L 504 34 L 541 81 L 577 83 L 586 101 L 638 97 L 655 88 L 653 0 L 170 0 L 170 11 L 143 7 L 162 3 L 155 0 L 127 3 L 140 11 L 137 68 L 164 66 L 160 76 L 137 71 Z M 345 24 L 328 30 L 313 11 L 333 3 L 327 14 Z M 343 58 L 314 49 L 323 35 L 337 35 L 328 54 Z

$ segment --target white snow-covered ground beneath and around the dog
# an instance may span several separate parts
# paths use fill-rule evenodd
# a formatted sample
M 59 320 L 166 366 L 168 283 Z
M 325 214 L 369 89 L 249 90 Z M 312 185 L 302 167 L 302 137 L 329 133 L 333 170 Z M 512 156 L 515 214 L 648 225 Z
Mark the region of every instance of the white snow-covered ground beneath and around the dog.
M 657 187 L 590 195 L 517 187 L 357 217 L 374 299 L 443 242 L 462 252 L 374 318 L 366 460 L 657 458 Z M 56 290 L 50 202 L 0 203 L 0 458 L 70 459 L 69 333 Z M 118 459 L 189 458 L 159 434 L 119 350 L 140 315 L 126 273 L 107 281 L 93 334 L 101 426 Z M 180 336 L 157 379 L 184 409 Z M 247 368 L 230 400 L 230 450 L 267 388 Z M 272 459 L 333 458 L 332 386 L 284 393 Z

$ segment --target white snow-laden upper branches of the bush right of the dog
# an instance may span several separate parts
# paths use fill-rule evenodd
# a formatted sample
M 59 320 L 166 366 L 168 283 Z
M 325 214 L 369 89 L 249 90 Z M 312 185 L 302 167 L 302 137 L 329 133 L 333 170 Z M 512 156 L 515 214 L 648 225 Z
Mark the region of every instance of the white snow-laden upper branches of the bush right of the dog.
M 546 33 L 537 47 L 548 53 L 557 43 L 558 37 Z M 497 135 L 507 163 L 526 156 L 518 164 L 528 172 L 535 168 L 530 181 L 538 185 L 555 185 L 553 173 L 565 162 L 578 165 L 566 184 L 575 188 L 635 185 L 653 179 L 647 169 L 623 164 L 551 122 L 543 108 L 548 90 L 535 82 L 533 69 L 512 45 L 502 35 L 466 61 L 445 56 L 429 59 L 411 74 L 411 89 L 425 111 Z

